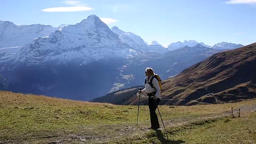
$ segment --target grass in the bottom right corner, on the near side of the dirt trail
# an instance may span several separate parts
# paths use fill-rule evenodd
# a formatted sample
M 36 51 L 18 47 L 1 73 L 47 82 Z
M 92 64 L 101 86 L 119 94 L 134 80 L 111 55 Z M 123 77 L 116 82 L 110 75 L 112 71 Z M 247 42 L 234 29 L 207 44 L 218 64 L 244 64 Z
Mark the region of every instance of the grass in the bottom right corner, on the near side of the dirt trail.
M 151 130 L 144 136 L 124 138 L 110 144 L 255 144 L 256 112 L 241 118 L 201 120 L 164 131 Z

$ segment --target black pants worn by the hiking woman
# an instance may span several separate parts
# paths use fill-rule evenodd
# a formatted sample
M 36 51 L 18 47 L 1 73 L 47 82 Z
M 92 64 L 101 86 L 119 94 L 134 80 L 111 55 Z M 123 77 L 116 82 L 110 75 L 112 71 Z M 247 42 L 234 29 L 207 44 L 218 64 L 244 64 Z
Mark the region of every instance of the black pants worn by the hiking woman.
M 151 128 L 160 128 L 158 117 L 156 115 L 156 108 L 160 102 L 160 98 L 156 99 L 156 102 L 154 98 L 148 98 L 148 107 L 150 111 L 150 122 L 151 122 Z M 157 105 L 156 105 L 157 104 Z

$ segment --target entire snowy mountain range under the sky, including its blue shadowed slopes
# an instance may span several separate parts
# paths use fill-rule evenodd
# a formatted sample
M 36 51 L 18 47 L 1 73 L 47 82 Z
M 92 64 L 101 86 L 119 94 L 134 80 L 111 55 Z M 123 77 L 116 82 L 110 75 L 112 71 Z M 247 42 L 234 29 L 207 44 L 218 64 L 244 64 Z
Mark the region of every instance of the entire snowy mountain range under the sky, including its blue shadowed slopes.
M 0 74 L 8 90 L 74 100 L 140 85 L 146 67 L 167 79 L 212 54 L 241 46 L 209 48 L 188 40 L 182 43 L 186 46 L 170 50 L 116 26 L 109 28 L 96 15 L 58 27 L 0 21 L 0 34 Z

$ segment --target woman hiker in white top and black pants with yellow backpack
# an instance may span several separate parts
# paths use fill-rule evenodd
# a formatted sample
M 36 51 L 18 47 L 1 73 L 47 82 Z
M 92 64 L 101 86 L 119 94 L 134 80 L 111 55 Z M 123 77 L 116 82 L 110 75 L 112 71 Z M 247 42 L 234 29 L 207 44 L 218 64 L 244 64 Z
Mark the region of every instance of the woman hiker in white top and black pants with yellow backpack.
M 158 117 L 156 115 L 156 108 L 160 102 L 161 90 L 158 84 L 158 80 L 156 80 L 156 78 L 153 78 L 152 80 L 152 84 L 154 88 L 152 88 L 149 84 L 150 79 L 152 78 L 152 76 L 154 76 L 154 70 L 152 68 L 146 68 L 145 75 L 147 76 L 145 88 L 143 90 L 139 90 L 139 93 L 146 92 L 148 95 L 148 107 L 150 111 L 150 122 L 151 122 L 151 127 L 148 129 L 157 130 L 158 128 L 160 128 L 160 125 L 158 122 Z

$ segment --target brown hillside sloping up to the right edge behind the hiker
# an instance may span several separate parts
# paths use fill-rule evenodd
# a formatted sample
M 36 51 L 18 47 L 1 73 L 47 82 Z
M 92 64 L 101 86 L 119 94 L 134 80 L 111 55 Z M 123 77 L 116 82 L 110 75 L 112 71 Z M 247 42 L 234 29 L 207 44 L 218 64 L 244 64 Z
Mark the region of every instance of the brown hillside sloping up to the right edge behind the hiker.
M 206 94 L 214 95 L 206 96 Z M 256 43 L 214 54 L 163 81 L 165 104 L 230 102 L 256 97 Z

